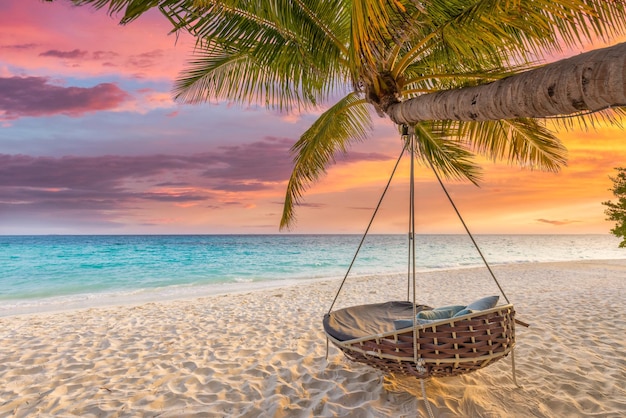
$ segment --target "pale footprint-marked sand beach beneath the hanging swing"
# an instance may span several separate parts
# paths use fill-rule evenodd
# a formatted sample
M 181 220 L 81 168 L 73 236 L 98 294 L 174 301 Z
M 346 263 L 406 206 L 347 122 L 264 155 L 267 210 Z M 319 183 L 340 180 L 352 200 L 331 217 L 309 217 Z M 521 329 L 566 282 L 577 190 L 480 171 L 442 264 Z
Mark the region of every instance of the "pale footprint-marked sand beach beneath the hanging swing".
M 626 414 L 626 260 L 494 268 L 518 318 L 510 357 L 431 379 L 437 417 Z M 498 290 L 484 269 L 420 276 L 420 302 Z M 398 284 L 393 284 L 392 279 Z M 0 318 L 0 417 L 414 417 L 419 382 L 350 363 L 321 319 L 338 281 Z M 404 299 L 406 278 L 349 279 L 337 307 Z

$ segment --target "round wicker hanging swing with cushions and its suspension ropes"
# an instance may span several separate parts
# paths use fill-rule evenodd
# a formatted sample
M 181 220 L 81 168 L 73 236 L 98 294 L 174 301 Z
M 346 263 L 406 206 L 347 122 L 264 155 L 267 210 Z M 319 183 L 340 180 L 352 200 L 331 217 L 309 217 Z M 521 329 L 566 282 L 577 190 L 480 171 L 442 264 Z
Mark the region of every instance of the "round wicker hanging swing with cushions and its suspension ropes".
M 506 304 L 493 306 L 492 296 L 467 306 L 432 308 L 416 303 L 415 280 L 415 135 L 403 126 L 404 148 L 391 173 L 372 219 L 361 239 L 356 254 L 335 295 L 323 324 L 328 341 L 349 359 L 394 375 L 429 377 L 457 376 L 486 367 L 513 353 L 515 347 L 515 310 L 485 260 L 480 248 L 465 225 L 441 178 L 430 164 L 439 184 L 452 204 L 467 234 L 478 250 L 485 266 L 498 285 Z M 405 152 L 410 162 L 409 192 L 409 287 L 412 301 L 390 301 L 352 306 L 333 311 L 333 306 L 350 273 L 354 261 L 378 212 L 398 164 Z M 407 289 L 409 293 L 409 289 Z M 522 322 L 518 323 L 525 325 Z M 513 358 L 513 357 L 512 357 Z M 515 366 L 513 363 L 513 379 Z

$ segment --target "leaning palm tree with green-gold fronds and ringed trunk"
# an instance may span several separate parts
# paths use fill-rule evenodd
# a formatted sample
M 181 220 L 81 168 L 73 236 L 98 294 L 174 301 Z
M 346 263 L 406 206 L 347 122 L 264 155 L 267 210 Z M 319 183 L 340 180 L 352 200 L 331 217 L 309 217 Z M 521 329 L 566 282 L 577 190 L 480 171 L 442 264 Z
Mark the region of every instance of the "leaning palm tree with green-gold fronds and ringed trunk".
M 625 0 L 72 1 L 124 11 L 122 23 L 156 7 L 173 31 L 195 36 L 178 99 L 294 111 L 339 98 L 293 147 L 281 228 L 293 225 L 294 207 L 334 156 L 368 138 L 372 108 L 411 126 L 422 162 L 477 183 L 475 154 L 547 171 L 565 164 L 565 148 L 540 118 L 626 104 L 624 72 L 613 71 L 620 59 L 624 68 L 623 45 L 591 77 L 577 58 L 537 66 L 561 48 L 624 33 Z M 564 80 L 580 65 L 585 98 L 577 100 L 561 86 L 575 84 Z M 617 74 L 608 98 L 607 68 Z

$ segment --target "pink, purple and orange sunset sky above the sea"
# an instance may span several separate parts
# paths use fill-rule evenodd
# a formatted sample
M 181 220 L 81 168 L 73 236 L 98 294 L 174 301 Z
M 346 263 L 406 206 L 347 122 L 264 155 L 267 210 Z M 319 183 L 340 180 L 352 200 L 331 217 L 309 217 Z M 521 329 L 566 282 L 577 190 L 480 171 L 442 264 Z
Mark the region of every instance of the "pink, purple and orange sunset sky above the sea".
M 176 103 L 193 39 L 156 13 L 118 20 L 64 1 L 0 2 L 0 234 L 278 233 L 289 149 L 321 110 Z M 292 233 L 364 231 L 401 149 L 375 120 L 308 190 Z M 448 187 L 475 233 L 608 233 L 601 202 L 626 164 L 625 134 L 562 131 L 558 174 L 485 162 L 480 188 Z M 407 230 L 407 165 L 374 232 Z M 420 232 L 462 232 L 424 167 L 417 193 Z

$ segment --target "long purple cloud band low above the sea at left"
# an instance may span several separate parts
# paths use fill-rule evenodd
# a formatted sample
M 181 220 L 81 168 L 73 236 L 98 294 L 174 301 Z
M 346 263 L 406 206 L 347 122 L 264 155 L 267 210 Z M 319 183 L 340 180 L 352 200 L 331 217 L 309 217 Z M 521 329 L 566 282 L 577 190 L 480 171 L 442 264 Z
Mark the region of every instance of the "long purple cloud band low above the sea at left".
M 0 210 L 3 202 L 5 209 L 22 210 L 25 205 L 106 209 L 137 201 L 191 204 L 211 201 L 221 192 L 269 190 L 289 178 L 293 142 L 268 137 L 191 155 L 0 154 Z

